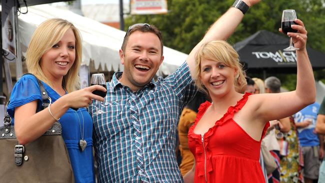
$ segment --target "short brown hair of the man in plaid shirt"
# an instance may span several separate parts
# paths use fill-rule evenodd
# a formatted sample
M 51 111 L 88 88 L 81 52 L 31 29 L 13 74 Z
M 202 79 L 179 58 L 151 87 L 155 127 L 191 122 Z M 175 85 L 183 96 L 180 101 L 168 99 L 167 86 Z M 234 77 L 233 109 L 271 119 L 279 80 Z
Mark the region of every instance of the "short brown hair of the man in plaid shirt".
M 124 36 L 124 39 L 123 39 L 122 46 L 121 46 L 121 49 L 123 52 L 125 51 L 128 37 L 131 35 L 131 33 L 135 32 L 135 31 L 151 32 L 151 33 L 154 33 L 155 35 L 157 35 L 160 40 L 161 55 L 162 55 L 162 52 L 163 52 L 162 51 L 163 50 L 162 34 L 157 27 L 155 27 L 154 25 L 150 25 L 148 23 L 136 23 L 136 24 L 130 25 L 128 27 L 126 34 Z

